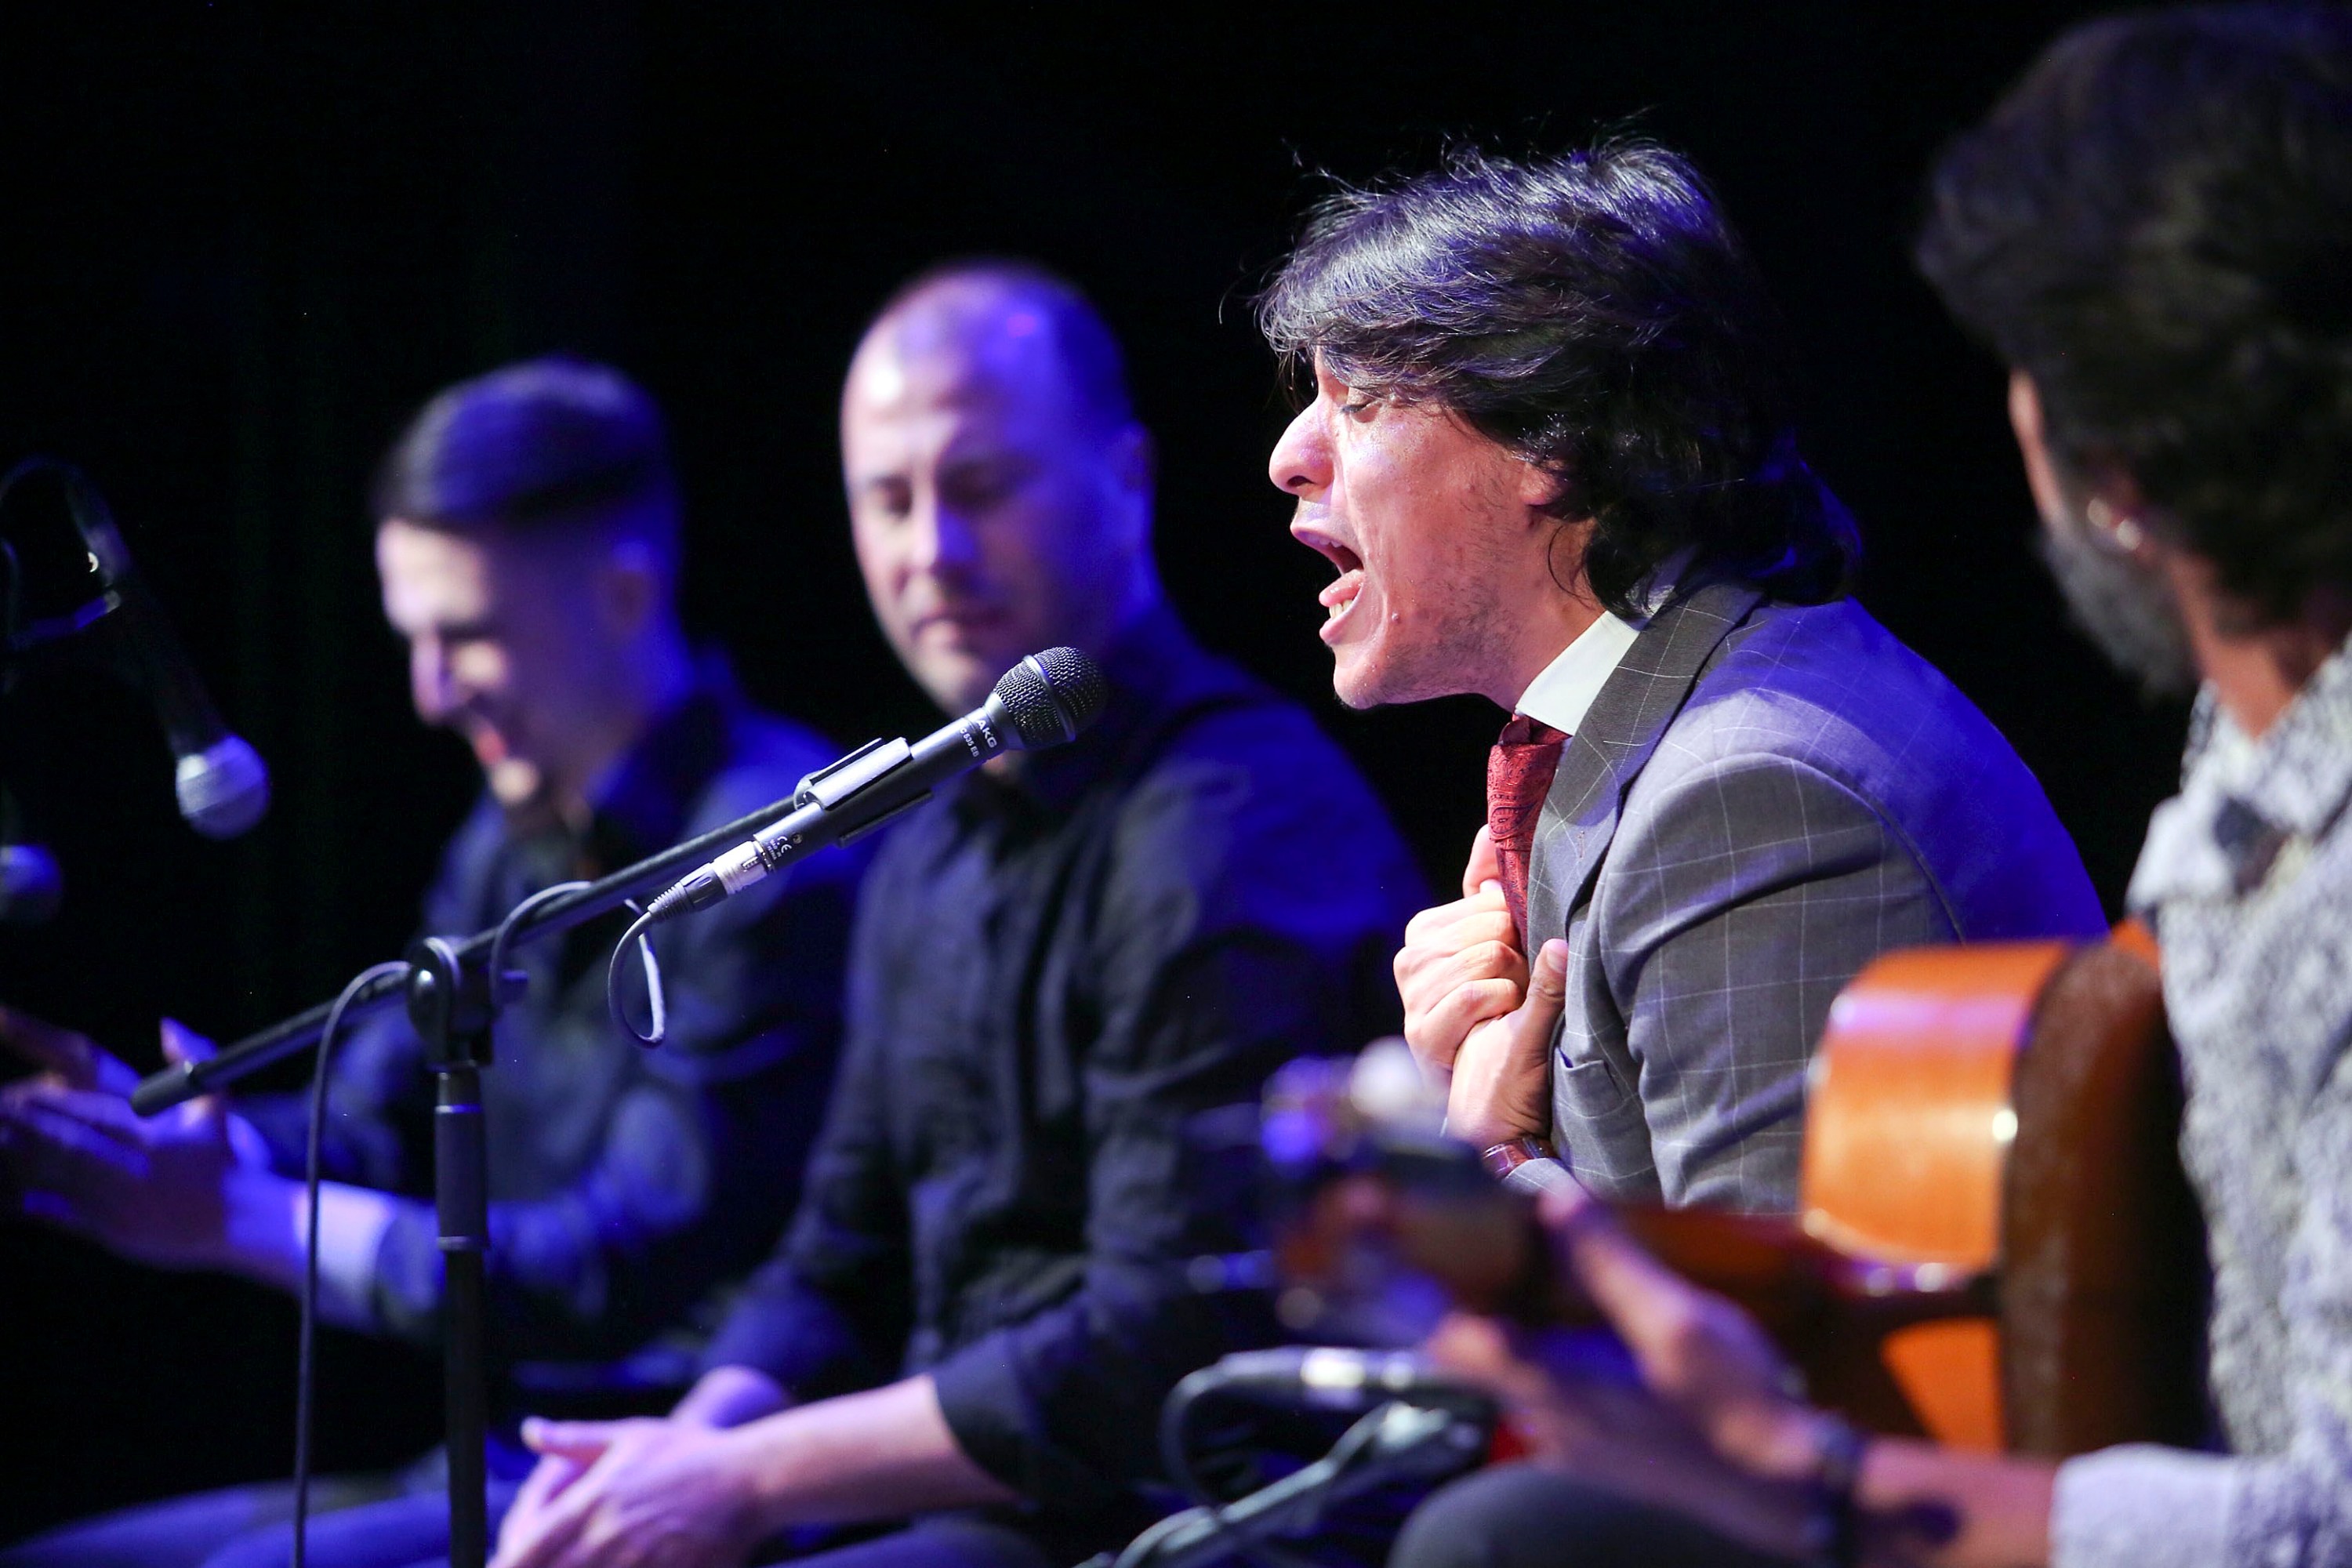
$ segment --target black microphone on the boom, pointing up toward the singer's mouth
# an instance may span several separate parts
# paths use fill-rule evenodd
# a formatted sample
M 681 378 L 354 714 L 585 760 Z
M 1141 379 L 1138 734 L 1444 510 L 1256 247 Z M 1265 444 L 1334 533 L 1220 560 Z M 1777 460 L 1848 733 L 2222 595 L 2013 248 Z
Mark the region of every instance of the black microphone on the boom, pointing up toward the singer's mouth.
M 708 910 L 811 851 L 847 844 L 927 802 L 936 785 L 990 757 L 1075 741 L 1108 701 L 1103 668 L 1077 649 L 1030 654 L 1004 672 L 985 703 L 915 745 L 903 738 L 873 741 L 802 778 L 790 816 L 680 877 L 644 905 L 644 924 L 659 926 L 689 910 Z

